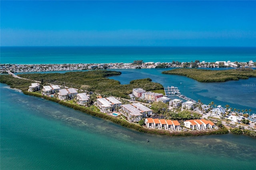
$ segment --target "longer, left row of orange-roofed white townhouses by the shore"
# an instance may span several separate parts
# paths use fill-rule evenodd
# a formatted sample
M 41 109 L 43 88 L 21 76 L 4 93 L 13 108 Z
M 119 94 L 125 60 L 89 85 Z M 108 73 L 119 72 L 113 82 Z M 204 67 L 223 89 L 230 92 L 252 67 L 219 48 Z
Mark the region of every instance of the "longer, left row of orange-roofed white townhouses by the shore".
M 148 128 L 158 128 L 165 130 L 182 130 L 180 123 L 178 121 L 165 120 L 165 119 L 145 119 L 146 127 Z

